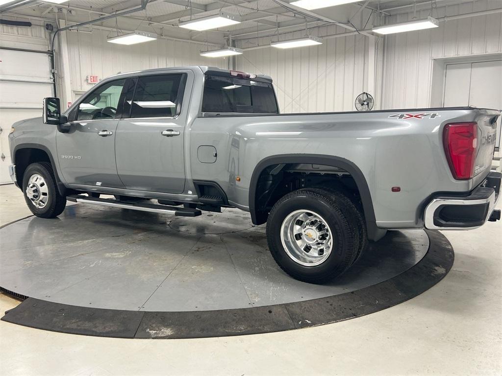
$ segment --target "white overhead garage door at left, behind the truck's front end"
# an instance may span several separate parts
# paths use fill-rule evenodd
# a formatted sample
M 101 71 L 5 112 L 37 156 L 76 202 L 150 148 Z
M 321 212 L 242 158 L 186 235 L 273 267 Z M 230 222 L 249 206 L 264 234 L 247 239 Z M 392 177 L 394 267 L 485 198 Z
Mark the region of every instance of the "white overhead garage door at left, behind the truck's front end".
M 11 125 L 42 116 L 42 100 L 52 95 L 48 54 L 0 48 L 0 184 L 11 182 L 8 138 Z

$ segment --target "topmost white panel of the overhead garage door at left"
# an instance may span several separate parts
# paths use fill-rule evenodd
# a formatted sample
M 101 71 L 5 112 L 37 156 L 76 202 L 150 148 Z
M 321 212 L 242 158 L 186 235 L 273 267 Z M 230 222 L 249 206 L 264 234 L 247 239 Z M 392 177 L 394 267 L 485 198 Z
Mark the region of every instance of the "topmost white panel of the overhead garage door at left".
M 49 55 L 0 49 L 0 79 L 50 81 Z

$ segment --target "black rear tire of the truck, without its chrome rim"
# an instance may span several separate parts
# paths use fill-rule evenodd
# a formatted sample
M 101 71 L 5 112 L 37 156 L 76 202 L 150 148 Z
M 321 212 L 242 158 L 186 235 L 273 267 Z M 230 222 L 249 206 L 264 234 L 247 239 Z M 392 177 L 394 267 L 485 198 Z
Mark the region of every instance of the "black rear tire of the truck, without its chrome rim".
M 281 240 L 281 227 L 295 211 L 317 213 L 331 231 L 332 250 L 315 266 L 305 266 L 288 255 Z M 302 189 L 281 198 L 272 208 L 267 221 L 269 249 L 277 264 L 293 278 L 309 283 L 326 283 L 340 276 L 355 261 L 359 250 L 359 231 L 353 208 L 332 192 Z

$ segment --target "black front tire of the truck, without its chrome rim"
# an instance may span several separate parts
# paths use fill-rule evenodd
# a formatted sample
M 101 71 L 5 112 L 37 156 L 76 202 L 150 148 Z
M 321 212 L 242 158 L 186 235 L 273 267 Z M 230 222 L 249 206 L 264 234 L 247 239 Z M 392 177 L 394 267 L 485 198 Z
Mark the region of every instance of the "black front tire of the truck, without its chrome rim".
M 38 174 L 42 176 L 44 183 L 41 186 L 47 186 L 47 202 L 43 208 L 39 208 L 34 204 L 28 195 L 27 187 L 30 178 Z M 54 177 L 54 172 L 52 171 L 52 166 L 49 162 L 36 162 L 30 164 L 23 175 L 23 195 L 25 197 L 26 204 L 30 211 L 41 218 L 55 218 L 63 213 L 66 207 L 66 197 L 61 196 L 57 189 L 56 178 Z

